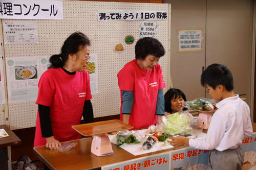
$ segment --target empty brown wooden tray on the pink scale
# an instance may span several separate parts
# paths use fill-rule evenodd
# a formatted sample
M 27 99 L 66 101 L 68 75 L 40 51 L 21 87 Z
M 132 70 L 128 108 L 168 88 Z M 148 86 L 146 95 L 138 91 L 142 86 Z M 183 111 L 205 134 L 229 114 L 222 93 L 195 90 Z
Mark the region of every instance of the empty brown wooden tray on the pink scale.
M 74 125 L 72 128 L 83 136 L 92 136 L 132 129 L 133 127 L 121 122 L 120 120 L 114 119 L 90 124 Z

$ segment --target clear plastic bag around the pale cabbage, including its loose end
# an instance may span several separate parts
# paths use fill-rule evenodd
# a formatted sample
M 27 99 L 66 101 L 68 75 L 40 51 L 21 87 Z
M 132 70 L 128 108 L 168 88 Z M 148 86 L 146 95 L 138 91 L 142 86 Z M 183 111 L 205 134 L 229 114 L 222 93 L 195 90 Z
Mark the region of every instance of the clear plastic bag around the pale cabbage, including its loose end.
M 170 135 L 175 134 L 195 134 L 202 129 L 197 128 L 197 121 L 189 117 L 189 112 L 180 111 L 168 115 L 167 117 L 162 117 L 163 123 L 165 125 L 165 133 Z

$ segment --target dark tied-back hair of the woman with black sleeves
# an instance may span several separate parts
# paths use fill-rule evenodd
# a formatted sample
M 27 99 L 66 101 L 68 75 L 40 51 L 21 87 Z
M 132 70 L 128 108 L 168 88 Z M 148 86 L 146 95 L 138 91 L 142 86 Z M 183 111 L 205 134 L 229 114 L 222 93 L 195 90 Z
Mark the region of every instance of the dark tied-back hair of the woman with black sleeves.
M 62 67 L 67 61 L 69 54 L 75 54 L 81 47 L 90 46 L 89 38 L 81 32 L 71 34 L 63 43 L 61 53 L 50 57 L 50 68 Z

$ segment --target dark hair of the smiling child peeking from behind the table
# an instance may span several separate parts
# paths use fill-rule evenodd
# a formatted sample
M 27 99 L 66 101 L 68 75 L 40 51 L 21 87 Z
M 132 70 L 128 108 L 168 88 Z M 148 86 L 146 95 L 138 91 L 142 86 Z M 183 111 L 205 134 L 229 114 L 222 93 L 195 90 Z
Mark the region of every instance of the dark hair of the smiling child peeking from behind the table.
M 187 101 L 185 94 L 180 90 L 176 88 L 171 88 L 164 94 L 164 111 L 168 113 L 172 113 L 172 105 L 170 104 L 170 101 L 172 99 L 177 99 L 179 96 L 182 96 L 184 101 Z M 183 108 L 183 110 L 187 110 L 187 108 Z

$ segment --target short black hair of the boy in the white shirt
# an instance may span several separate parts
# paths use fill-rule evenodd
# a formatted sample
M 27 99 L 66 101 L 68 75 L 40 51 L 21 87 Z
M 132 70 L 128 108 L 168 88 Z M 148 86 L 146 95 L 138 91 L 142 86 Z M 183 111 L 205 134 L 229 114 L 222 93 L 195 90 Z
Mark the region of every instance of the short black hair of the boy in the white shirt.
M 218 85 L 223 85 L 227 91 L 234 89 L 231 71 L 222 64 L 211 64 L 205 69 L 201 75 L 201 85 L 204 87 L 206 84 L 213 89 Z

